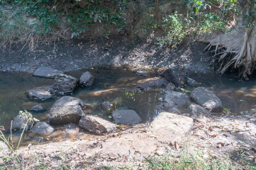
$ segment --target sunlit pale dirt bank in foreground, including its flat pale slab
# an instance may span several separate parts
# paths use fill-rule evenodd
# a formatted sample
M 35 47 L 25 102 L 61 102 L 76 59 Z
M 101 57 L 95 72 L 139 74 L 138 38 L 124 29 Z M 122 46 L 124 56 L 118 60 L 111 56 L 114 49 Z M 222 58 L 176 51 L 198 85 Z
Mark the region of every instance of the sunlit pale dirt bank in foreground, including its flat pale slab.
M 162 112 L 148 124 L 130 126 L 106 136 L 70 139 L 58 143 L 24 146 L 18 150 L 27 166 L 38 163 L 57 169 L 63 163 L 70 169 L 145 165 L 145 157 L 171 153 L 178 160 L 182 153 L 201 153 L 205 159 L 226 159 L 243 165 L 255 161 L 255 112 L 237 117 L 213 117 L 204 123 L 193 122 L 184 115 Z M 241 154 L 243 153 L 243 154 Z M 243 162 L 245 161 L 245 162 Z

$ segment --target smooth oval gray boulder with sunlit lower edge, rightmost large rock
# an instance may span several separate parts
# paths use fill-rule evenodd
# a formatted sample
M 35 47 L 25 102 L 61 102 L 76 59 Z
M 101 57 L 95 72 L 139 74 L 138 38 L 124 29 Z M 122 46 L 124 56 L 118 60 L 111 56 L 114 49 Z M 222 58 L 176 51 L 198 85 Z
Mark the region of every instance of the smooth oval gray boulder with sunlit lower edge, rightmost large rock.
M 190 95 L 191 99 L 200 106 L 211 110 L 211 112 L 221 112 L 223 110 L 223 104 L 219 97 L 217 97 L 212 91 L 204 87 L 195 88 Z

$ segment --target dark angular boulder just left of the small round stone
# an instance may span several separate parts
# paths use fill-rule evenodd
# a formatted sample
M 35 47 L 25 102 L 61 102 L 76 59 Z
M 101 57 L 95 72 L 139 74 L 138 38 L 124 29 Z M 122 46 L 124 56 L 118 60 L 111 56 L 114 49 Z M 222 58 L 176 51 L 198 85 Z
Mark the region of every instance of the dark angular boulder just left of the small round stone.
M 78 84 L 78 79 L 70 75 L 58 74 L 54 79 L 52 93 L 55 95 L 66 95 L 73 93 Z

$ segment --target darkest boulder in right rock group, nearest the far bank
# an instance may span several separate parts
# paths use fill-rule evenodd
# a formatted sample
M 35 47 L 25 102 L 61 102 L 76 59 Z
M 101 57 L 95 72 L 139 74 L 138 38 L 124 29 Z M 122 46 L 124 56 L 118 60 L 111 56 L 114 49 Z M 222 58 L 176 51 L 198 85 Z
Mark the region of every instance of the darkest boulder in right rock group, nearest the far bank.
M 183 71 L 178 68 L 169 68 L 160 74 L 169 82 L 172 82 L 176 86 L 184 86 L 186 84 L 187 77 Z

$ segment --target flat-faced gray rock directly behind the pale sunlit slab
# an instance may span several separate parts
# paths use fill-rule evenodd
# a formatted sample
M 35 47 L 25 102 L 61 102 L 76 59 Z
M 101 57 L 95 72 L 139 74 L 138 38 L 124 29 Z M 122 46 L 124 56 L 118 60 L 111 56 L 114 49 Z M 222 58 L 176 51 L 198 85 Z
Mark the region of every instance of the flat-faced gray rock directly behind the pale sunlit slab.
M 178 91 L 165 91 L 163 106 L 166 110 L 171 111 L 173 108 L 182 108 L 190 103 L 189 97 Z

